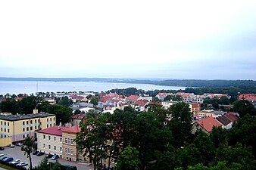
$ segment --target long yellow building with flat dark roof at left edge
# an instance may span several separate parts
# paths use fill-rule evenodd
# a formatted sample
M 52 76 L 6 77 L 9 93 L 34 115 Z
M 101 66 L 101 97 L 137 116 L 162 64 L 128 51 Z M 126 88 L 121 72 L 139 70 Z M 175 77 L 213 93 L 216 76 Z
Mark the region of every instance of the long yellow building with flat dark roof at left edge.
M 14 143 L 27 136 L 36 138 L 35 131 L 55 126 L 55 121 L 56 116 L 48 113 L 0 115 L 0 138 L 11 137 Z

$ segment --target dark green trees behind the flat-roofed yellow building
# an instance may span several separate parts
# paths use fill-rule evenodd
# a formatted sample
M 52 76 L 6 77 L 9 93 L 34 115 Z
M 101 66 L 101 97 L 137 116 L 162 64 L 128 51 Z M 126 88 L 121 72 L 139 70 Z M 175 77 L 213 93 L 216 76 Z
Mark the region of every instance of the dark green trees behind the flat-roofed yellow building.
M 52 105 L 40 97 L 27 96 L 22 100 L 15 100 L 14 97 L 8 97 L 5 101 L 0 102 L 0 113 L 8 112 L 12 114 L 31 114 L 37 108 L 39 112 L 51 113 L 56 115 L 56 123 L 66 123 L 70 121 L 72 109 L 69 107 L 72 100 L 68 97 L 61 97 L 57 100 L 58 104 Z

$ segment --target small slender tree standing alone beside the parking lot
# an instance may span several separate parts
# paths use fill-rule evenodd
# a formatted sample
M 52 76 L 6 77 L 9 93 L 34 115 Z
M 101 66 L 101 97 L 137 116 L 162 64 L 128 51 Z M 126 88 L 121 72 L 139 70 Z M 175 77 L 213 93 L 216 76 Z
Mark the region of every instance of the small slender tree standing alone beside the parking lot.
M 23 147 L 21 147 L 21 150 L 24 151 L 24 155 L 27 155 L 27 157 L 30 159 L 30 170 L 33 169 L 31 153 L 35 148 L 36 148 L 35 139 L 27 136 L 27 138 L 25 138 L 23 142 Z

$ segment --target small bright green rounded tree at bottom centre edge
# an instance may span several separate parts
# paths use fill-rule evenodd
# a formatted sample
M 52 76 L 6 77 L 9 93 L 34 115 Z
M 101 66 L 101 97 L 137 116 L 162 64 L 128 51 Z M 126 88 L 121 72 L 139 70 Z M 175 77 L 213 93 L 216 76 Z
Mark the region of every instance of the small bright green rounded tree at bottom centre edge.
M 118 157 L 117 170 L 139 170 L 139 151 L 135 147 L 127 146 Z

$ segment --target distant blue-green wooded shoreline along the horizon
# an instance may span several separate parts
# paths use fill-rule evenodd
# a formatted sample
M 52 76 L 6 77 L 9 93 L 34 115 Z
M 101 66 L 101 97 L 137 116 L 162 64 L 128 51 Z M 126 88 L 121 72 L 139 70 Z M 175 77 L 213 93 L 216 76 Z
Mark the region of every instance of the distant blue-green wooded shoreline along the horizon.
M 204 80 L 204 79 L 111 79 L 111 78 L 14 78 L 0 77 L 0 81 L 45 81 L 45 82 L 110 82 L 110 83 L 130 83 L 130 84 L 148 84 L 148 85 L 164 85 L 178 87 L 194 87 L 194 88 L 227 88 L 254 86 L 254 80 Z

